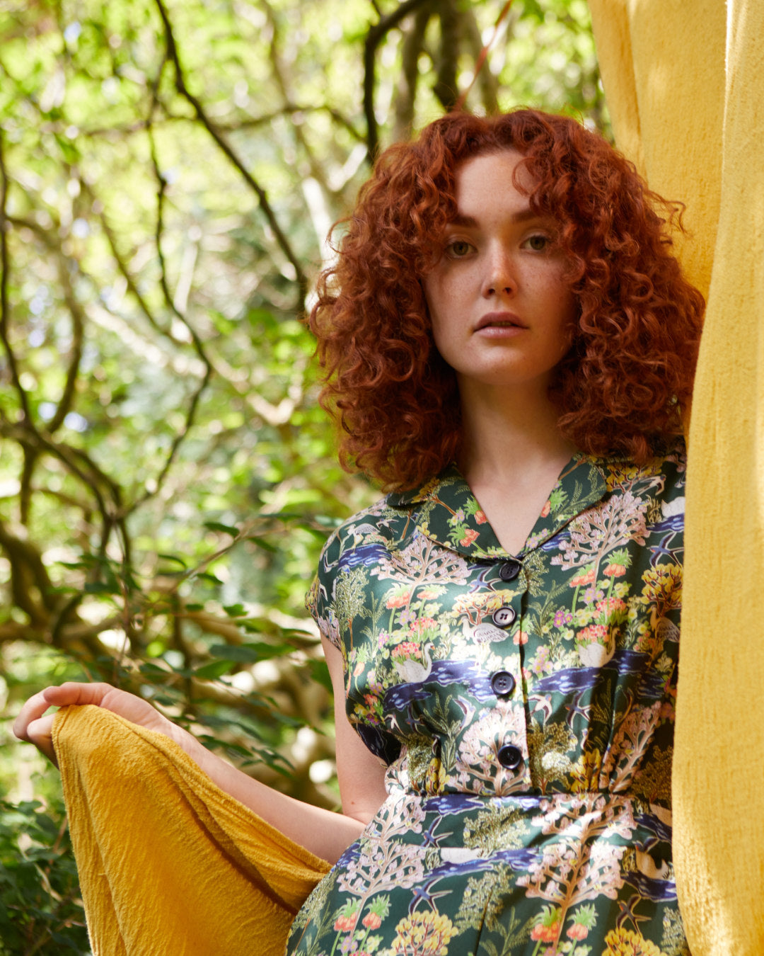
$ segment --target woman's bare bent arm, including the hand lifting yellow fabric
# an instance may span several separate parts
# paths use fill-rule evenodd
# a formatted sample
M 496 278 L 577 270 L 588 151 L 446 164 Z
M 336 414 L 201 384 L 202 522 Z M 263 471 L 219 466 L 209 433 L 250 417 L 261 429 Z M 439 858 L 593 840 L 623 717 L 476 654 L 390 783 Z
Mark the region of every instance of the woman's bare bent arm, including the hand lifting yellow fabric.
M 345 688 L 339 651 L 324 640 L 334 688 L 337 721 L 337 771 L 342 814 L 314 807 L 253 780 L 221 757 L 206 750 L 190 733 L 163 717 L 153 706 L 110 684 L 61 684 L 48 687 L 27 701 L 13 724 L 13 732 L 55 763 L 50 706 L 95 704 L 106 707 L 141 727 L 158 730 L 176 743 L 225 793 L 243 803 L 289 839 L 317 857 L 335 862 L 358 836 L 384 801 L 385 768 L 350 727 L 345 714 Z

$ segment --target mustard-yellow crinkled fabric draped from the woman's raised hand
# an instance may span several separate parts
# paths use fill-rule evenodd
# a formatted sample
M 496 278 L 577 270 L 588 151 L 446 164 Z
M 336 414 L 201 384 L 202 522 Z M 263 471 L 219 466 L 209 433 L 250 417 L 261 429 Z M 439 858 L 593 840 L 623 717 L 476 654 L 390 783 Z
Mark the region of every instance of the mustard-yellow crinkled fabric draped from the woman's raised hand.
M 326 860 L 111 711 L 61 708 L 53 746 L 95 956 L 283 956 Z

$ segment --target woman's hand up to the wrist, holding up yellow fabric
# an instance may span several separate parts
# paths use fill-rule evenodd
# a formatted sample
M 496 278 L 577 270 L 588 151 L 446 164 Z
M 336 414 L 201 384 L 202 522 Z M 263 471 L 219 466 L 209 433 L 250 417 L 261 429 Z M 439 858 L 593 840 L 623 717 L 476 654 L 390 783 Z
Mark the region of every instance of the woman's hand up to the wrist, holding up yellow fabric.
M 46 711 L 51 706 L 62 707 L 67 704 L 95 704 L 105 707 L 132 724 L 159 730 L 159 733 L 172 737 L 182 746 L 181 737 L 185 731 L 176 727 L 135 694 L 117 690 L 117 687 L 111 684 L 74 684 L 70 681 L 58 687 L 46 687 L 34 694 L 13 722 L 13 733 L 19 740 L 29 741 L 52 760 L 56 767 L 58 762 L 55 759 L 52 739 L 54 714 L 46 714 Z

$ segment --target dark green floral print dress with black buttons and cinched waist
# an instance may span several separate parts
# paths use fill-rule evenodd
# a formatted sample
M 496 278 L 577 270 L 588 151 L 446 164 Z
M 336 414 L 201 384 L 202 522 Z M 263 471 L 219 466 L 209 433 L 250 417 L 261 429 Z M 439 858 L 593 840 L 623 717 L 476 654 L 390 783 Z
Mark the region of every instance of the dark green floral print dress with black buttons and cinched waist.
M 388 798 L 294 956 L 687 956 L 671 862 L 682 447 L 577 455 L 520 554 L 454 469 L 350 518 L 308 609 Z

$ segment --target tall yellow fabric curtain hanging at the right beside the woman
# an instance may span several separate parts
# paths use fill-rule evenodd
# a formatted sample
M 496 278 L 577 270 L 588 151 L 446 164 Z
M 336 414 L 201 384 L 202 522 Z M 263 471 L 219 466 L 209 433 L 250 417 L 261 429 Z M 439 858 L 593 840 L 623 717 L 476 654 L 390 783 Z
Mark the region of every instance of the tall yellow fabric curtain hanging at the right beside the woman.
M 708 296 L 674 753 L 693 956 L 764 953 L 764 2 L 589 0 L 616 141 Z

